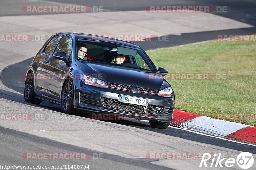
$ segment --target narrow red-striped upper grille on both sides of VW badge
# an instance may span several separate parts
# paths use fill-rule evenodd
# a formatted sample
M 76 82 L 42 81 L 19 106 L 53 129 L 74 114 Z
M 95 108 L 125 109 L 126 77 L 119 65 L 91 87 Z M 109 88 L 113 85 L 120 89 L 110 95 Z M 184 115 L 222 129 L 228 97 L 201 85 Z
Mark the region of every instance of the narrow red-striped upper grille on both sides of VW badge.
M 120 84 L 115 84 L 115 83 L 107 83 L 107 84 L 108 84 L 109 88 L 130 91 L 129 85 L 120 85 Z M 142 87 L 138 87 L 138 89 L 139 89 L 138 93 L 148 93 L 148 94 L 157 95 L 159 92 L 159 90 L 147 89 L 147 88 L 142 88 Z

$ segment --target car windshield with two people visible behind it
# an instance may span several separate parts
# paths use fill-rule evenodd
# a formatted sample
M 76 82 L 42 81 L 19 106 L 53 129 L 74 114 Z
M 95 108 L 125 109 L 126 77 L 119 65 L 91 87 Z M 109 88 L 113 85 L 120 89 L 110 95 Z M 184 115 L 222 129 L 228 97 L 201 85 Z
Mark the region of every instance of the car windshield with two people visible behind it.
M 155 72 L 154 66 L 140 48 L 84 39 L 78 39 L 77 44 L 77 60 Z M 87 51 L 84 52 L 83 49 Z

